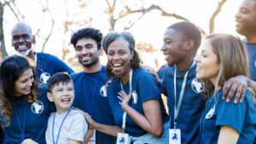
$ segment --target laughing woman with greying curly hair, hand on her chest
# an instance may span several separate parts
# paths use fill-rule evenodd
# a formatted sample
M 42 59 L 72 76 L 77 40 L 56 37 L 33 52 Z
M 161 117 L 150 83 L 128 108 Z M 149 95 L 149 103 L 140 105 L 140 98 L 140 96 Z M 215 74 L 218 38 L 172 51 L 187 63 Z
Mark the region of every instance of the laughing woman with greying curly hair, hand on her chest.
M 131 142 L 166 143 L 169 118 L 156 79 L 140 67 L 133 36 L 109 33 L 102 46 L 108 56 L 107 74 L 113 80 L 107 95 L 116 124 Z

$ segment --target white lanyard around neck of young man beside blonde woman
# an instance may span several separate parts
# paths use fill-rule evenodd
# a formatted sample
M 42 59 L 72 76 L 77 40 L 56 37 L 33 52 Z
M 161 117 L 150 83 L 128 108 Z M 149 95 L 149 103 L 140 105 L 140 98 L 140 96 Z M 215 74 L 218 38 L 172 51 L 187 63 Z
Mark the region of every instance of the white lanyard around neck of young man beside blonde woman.
M 193 62 L 192 66 L 189 67 L 189 70 L 194 65 L 195 65 L 195 61 Z M 186 82 L 187 82 L 189 70 L 186 72 L 186 74 L 183 78 L 183 85 L 182 85 L 182 89 L 181 89 L 180 94 L 179 94 L 177 104 L 176 104 L 176 98 L 177 98 L 177 95 L 176 95 L 176 68 L 175 68 L 175 71 L 174 71 L 174 79 L 173 79 L 173 82 L 174 82 L 174 121 L 173 121 L 174 129 L 176 128 L 176 124 L 177 124 L 177 114 L 179 112 L 181 102 L 183 101 L 183 95 L 184 95 L 184 90 L 185 90 L 185 87 L 186 87 Z

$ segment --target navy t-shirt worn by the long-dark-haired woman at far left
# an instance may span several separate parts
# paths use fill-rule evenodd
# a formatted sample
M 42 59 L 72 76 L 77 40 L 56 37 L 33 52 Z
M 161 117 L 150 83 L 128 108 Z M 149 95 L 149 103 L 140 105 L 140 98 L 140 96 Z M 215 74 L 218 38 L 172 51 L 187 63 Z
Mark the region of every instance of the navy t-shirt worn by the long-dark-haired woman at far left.
M 26 112 L 24 138 L 32 139 L 40 144 L 46 143 L 45 130 L 47 128 L 49 114 L 54 111 L 54 105 L 48 101 L 45 90 L 45 87 L 41 87 L 39 100 L 33 103 L 26 103 L 23 96 L 16 97 L 14 101 L 21 129 L 23 129 L 24 113 Z M 1 123 L 4 123 L 3 119 Z M 3 127 L 3 133 L 5 135 L 4 144 L 21 142 L 21 132 L 15 110 L 11 115 L 9 126 Z

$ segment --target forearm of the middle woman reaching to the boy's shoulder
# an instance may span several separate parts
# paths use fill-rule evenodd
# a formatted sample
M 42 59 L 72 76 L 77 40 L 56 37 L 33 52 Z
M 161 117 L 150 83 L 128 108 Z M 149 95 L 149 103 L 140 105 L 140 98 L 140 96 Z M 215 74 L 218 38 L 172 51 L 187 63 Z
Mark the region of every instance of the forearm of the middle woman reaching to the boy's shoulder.
M 89 124 L 89 128 L 93 130 L 101 131 L 104 134 L 117 136 L 118 133 L 123 132 L 121 128 L 116 125 L 107 125 L 107 124 L 99 124 L 96 123 L 92 118 L 90 118 L 89 114 L 85 114 L 85 118 L 87 123 Z

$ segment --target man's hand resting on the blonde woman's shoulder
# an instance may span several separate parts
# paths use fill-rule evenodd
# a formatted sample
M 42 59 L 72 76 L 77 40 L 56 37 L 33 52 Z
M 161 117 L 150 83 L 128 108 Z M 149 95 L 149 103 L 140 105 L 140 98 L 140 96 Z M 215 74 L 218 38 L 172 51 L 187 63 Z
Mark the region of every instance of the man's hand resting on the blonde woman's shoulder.
M 230 102 L 232 97 L 236 94 L 234 103 L 238 101 L 243 101 L 247 89 L 247 77 L 246 76 L 236 76 L 230 78 L 224 83 L 222 98 Z

